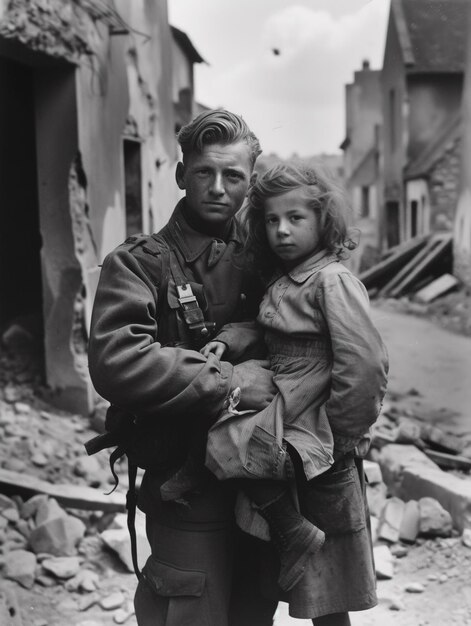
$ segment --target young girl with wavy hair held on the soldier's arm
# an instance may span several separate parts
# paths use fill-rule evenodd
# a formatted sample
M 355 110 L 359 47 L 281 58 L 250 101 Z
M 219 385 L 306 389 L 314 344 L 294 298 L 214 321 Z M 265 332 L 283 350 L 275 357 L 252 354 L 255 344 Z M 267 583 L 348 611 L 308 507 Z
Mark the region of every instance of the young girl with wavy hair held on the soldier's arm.
M 290 614 L 315 624 L 349 624 L 348 611 L 376 602 L 358 457 L 386 390 L 387 356 L 364 286 L 340 263 L 354 247 L 347 208 L 318 167 L 281 164 L 259 176 L 246 210 L 246 260 L 266 283 L 257 325 L 228 325 L 202 350 L 243 359 L 263 337 L 279 392 L 250 415 L 232 398 L 209 431 L 206 465 L 221 479 L 259 479 L 244 481 L 256 506 L 240 506 L 238 522 L 259 536 L 257 516 L 268 522 Z

